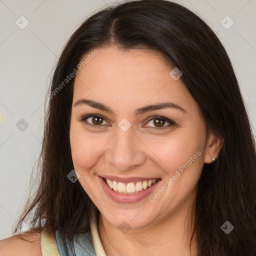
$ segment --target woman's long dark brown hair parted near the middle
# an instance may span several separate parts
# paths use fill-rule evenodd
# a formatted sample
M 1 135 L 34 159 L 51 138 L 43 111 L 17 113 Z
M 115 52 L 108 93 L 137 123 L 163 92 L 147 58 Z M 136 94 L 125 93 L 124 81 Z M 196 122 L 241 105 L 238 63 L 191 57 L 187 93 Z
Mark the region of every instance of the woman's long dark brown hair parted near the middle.
M 195 203 L 198 255 L 256 255 L 256 153 L 248 116 L 227 53 L 204 21 L 165 0 L 132 0 L 106 7 L 86 19 L 66 43 L 46 99 L 45 129 L 38 161 L 40 184 L 15 226 L 31 216 L 31 228 L 59 231 L 73 239 L 89 230 L 94 204 L 79 182 L 69 144 L 73 81 L 56 88 L 95 48 L 146 47 L 162 52 L 178 67 L 208 129 L 224 143 L 213 164 L 204 164 Z M 59 87 L 58 87 L 59 88 Z M 53 93 L 55 91 L 55 93 Z M 97 210 L 97 209 L 96 209 Z M 98 214 L 98 210 L 97 210 Z M 234 229 L 226 234 L 228 220 Z

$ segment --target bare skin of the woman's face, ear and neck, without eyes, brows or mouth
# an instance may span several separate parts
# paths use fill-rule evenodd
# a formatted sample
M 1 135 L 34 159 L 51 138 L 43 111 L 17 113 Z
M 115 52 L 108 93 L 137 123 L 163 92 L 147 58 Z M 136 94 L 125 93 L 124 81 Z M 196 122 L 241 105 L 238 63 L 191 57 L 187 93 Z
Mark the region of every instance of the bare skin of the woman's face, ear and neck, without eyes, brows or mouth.
M 98 51 L 75 77 L 70 145 L 78 181 L 100 211 L 98 232 L 105 253 L 190 255 L 198 179 L 204 163 L 217 158 L 223 141 L 211 131 L 206 136 L 198 105 L 181 80 L 169 75 L 173 67 L 159 52 L 115 46 Z M 79 99 L 104 103 L 113 113 L 86 104 L 74 106 Z M 134 115 L 136 108 L 162 102 L 173 102 L 185 111 L 162 108 Z M 86 125 L 93 118 L 81 121 L 85 114 L 102 115 L 103 122 Z M 153 129 L 155 115 L 175 124 L 164 122 L 164 127 Z M 131 124 L 127 131 L 118 126 L 123 118 Z M 198 151 L 200 156 L 154 202 L 148 197 L 135 203 L 115 202 L 99 182 L 98 176 L 104 175 L 159 178 L 153 195 Z M 121 223 L 129 229 L 118 228 Z M 196 255 L 196 239 L 191 255 Z

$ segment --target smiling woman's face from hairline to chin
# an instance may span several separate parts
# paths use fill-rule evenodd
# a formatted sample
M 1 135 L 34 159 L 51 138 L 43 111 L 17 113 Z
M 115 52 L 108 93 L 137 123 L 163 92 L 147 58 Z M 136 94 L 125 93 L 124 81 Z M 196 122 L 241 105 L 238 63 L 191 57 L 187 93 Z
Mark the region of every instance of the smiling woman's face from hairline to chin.
M 88 54 L 70 122 L 78 182 L 114 226 L 142 228 L 188 209 L 204 162 L 217 156 L 192 96 L 156 51 Z

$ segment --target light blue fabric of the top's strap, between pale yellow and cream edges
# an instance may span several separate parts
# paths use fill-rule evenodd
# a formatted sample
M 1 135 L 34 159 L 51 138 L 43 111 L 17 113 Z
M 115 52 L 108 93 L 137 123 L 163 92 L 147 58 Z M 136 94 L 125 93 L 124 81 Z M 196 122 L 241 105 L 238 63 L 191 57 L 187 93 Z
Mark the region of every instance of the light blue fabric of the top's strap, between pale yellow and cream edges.
M 66 256 L 65 250 L 64 250 L 64 244 L 60 238 L 58 230 L 56 230 L 55 235 L 56 235 L 56 241 L 57 241 L 57 246 L 58 246 L 58 251 L 60 256 Z M 66 245 L 68 249 L 68 256 L 73 256 L 71 247 L 67 239 L 66 239 Z M 86 233 L 75 234 L 73 245 L 74 245 L 74 251 L 76 256 L 80 256 L 80 255 L 94 256 L 96 254 L 90 231 Z

